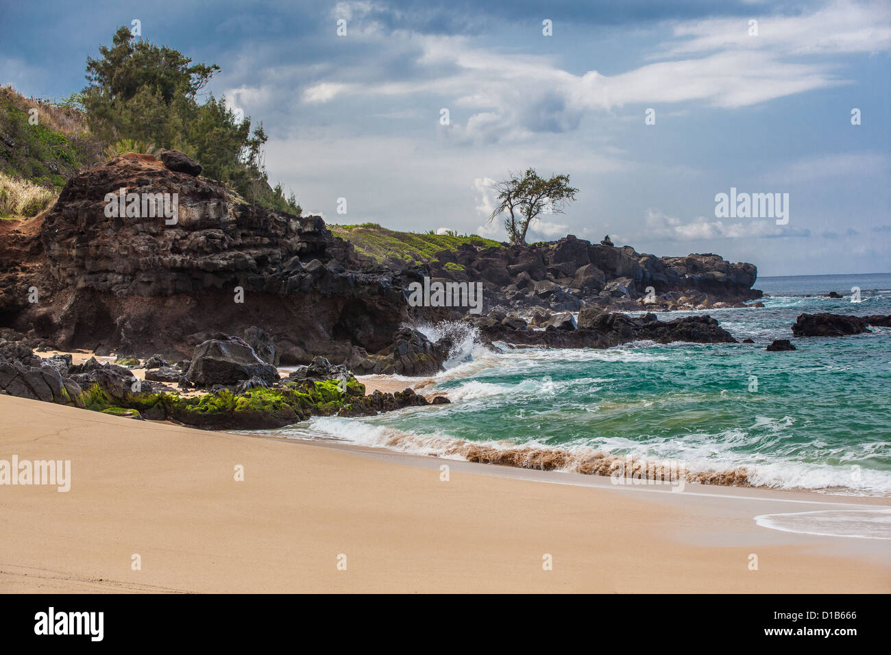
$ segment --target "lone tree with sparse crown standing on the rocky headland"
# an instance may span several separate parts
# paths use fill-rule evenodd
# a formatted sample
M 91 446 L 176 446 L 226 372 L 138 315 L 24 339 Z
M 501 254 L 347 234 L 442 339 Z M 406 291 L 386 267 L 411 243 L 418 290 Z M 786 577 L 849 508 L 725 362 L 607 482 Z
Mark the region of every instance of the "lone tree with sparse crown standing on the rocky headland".
M 539 220 L 539 214 L 544 209 L 548 209 L 549 214 L 562 214 L 568 202 L 576 200 L 578 189 L 569 186 L 568 175 L 545 180 L 535 173 L 535 168 L 527 168 L 522 177 L 510 175 L 510 179 L 492 185 L 498 192 L 499 204 L 489 215 L 488 222 L 507 212 L 504 229 L 513 245 L 522 246 L 526 244 L 529 225 Z

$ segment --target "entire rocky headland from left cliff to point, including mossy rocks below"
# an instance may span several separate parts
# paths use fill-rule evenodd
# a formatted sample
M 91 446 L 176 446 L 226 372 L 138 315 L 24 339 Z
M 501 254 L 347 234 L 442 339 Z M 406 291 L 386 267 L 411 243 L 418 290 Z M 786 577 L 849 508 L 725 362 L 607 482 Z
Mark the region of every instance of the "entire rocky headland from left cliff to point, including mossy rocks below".
M 164 194 L 175 215 L 160 211 Z M 146 196 L 158 211 L 140 204 Z M 175 151 L 129 153 L 72 176 L 52 207 L 0 231 L 0 389 L 204 427 L 427 404 L 413 393 L 365 397 L 353 377 L 441 370 L 453 341 L 430 340 L 417 329 L 424 323 L 470 323 L 480 340 L 515 346 L 732 342 L 707 315 L 665 322 L 652 312 L 746 307 L 761 296 L 751 264 L 658 258 L 573 236 L 380 262 L 321 217 L 243 201 Z M 406 290 L 425 278 L 481 283 L 486 312 L 413 307 Z M 78 349 L 146 367 L 143 386 L 127 366 L 78 368 L 33 352 Z M 281 366 L 316 373 L 284 379 Z M 182 396 L 196 390 L 204 396 Z

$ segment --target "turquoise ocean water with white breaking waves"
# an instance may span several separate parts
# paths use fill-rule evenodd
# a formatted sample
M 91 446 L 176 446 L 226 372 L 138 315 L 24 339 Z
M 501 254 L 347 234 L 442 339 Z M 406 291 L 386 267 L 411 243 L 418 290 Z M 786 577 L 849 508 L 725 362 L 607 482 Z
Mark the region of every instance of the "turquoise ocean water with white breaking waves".
M 756 288 L 772 296 L 763 309 L 697 312 L 754 345 L 490 350 L 459 332 L 449 368 L 421 389 L 451 405 L 275 432 L 455 457 L 452 446 L 466 442 L 631 454 L 690 471 L 743 469 L 759 486 L 891 495 L 891 329 L 809 339 L 790 329 L 803 312 L 891 314 L 891 274 L 763 277 Z M 822 297 L 829 291 L 845 298 Z M 797 350 L 766 352 L 774 339 Z

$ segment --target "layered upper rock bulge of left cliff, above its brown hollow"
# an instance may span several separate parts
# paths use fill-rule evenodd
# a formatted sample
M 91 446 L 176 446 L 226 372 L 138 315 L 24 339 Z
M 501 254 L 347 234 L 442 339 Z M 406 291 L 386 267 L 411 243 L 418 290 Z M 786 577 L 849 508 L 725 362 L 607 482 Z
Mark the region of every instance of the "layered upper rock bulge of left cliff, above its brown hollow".
M 138 216 L 106 216 L 106 194 L 119 209 L 122 188 L 138 196 Z M 164 193 L 171 204 L 176 193 L 176 222 L 146 195 Z M 151 155 L 124 155 L 69 180 L 41 240 L 65 286 L 157 296 L 228 287 L 282 260 L 324 256 L 331 235 L 319 217 L 257 211 L 221 183 L 168 170 Z

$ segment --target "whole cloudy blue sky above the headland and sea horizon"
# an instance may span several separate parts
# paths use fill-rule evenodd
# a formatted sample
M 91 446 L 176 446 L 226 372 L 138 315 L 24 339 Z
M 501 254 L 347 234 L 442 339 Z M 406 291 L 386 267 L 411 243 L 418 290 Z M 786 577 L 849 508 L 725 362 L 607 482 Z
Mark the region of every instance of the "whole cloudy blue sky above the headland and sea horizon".
M 609 233 L 764 275 L 891 271 L 887 0 L 91 6 L 0 0 L 0 83 L 79 90 L 86 56 L 141 20 L 222 67 L 209 90 L 264 122 L 272 181 L 331 222 L 502 239 L 487 185 L 534 167 L 581 191 L 531 240 Z M 715 217 L 731 187 L 789 193 L 789 223 Z

